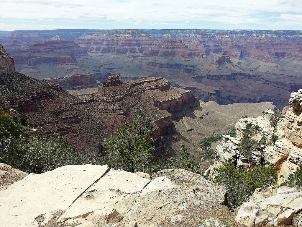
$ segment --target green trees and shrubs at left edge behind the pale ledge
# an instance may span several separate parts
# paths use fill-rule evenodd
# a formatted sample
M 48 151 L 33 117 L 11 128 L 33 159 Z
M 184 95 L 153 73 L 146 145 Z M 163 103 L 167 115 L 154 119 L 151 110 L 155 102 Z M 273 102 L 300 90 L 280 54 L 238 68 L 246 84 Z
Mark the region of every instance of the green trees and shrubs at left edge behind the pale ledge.
M 18 116 L 18 115 L 17 115 Z M 40 138 L 26 130 L 28 120 L 0 111 L 0 161 L 27 173 L 44 173 L 65 165 L 98 164 L 97 155 L 77 153 L 58 134 Z M 18 123 L 20 122 L 20 123 Z M 23 123 L 23 125 L 21 124 Z

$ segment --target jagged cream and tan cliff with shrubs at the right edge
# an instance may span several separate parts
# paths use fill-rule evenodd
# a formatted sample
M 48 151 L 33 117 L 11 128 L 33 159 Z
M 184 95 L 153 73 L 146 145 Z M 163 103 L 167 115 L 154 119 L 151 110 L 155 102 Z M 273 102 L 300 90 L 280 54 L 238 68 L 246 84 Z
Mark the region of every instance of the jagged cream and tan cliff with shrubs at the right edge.
M 206 174 L 212 174 L 213 168 L 223 165 L 227 160 L 237 168 L 249 168 L 251 163 L 266 161 L 274 163 L 279 176 L 284 176 L 284 179 L 278 180 L 278 183 L 282 184 L 290 174 L 302 166 L 301 97 L 302 89 L 292 92 L 290 108 L 283 118 L 275 118 L 272 110 L 266 110 L 264 115 L 258 118 L 241 118 L 235 126 L 237 137 L 223 136 L 223 140 L 216 147 L 215 163 L 210 166 Z M 279 119 L 276 126 L 272 125 L 272 119 Z M 247 128 L 254 131 L 254 140 L 261 140 L 263 143 L 252 150 L 250 161 L 238 150 L 240 140 Z M 263 138 L 267 140 L 266 143 L 263 142 Z

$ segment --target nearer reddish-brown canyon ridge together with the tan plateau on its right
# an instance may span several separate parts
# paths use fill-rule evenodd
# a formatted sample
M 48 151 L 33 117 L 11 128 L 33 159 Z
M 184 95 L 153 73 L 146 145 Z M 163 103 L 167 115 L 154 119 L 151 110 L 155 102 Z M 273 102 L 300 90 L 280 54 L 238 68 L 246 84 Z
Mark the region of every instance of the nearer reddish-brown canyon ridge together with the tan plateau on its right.
M 13 59 L 7 53 L 1 58 Z M 133 114 L 141 109 L 152 118 L 157 155 L 177 156 L 175 151 L 183 142 L 197 160 L 202 138 L 227 133 L 241 113 L 253 117 L 266 108 L 275 108 L 271 103 L 232 104 L 232 107 L 216 106 L 214 102 L 204 104 L 190 90 L 173 87 L 163 77 L 125 83 L 119 74 L 115 74 L 99 88 L 96 78 L 89 73 L 37 80 L 17 71 L 11 72 L 14 68 L 12 60 L 8 66 L 3 67 L 4 73 L 0 74 L 2 99 L 23 113 L 40 136 L 59 133 L 79 150 L 101 152 L 105 140 L 114 135 L 118 127 L 130 122 Z M 97 91 L 88 94 L 92 88 Z M 81 94 L 77 97 L 64 90 Z

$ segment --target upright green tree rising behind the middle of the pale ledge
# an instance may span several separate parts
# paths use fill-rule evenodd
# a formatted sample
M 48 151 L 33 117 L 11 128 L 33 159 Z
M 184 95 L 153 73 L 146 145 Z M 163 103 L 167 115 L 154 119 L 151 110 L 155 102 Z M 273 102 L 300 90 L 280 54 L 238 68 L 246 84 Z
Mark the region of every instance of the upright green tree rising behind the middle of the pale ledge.
M 129 172 L 151 173 L 157 165 L 153 165 L 154 139 L 151 138 L 153 125 L 151 118 L 138 110 L 130 123 L 119 127 L 114 138 L 106 141 L 108 165 L 122 168 Z

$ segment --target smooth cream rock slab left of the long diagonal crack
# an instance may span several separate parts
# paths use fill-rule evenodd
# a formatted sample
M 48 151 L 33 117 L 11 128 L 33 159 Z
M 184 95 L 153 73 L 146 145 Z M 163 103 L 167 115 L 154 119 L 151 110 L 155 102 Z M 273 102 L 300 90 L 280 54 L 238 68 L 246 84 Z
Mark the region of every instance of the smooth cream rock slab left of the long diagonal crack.
M 37 216 L 67 209 L 107 171 L 108 166 L 72 165 L 26 176 L 0 191 L 3 226 L 38 226 Z

